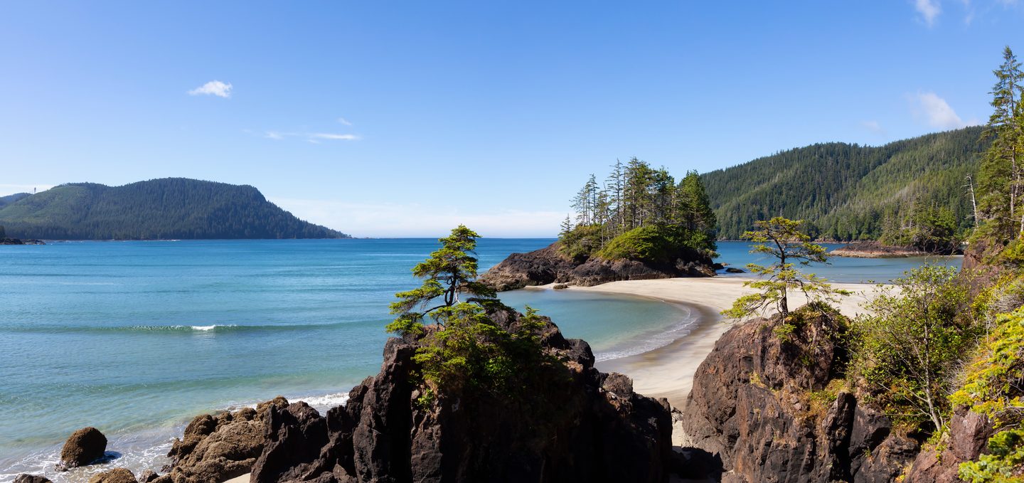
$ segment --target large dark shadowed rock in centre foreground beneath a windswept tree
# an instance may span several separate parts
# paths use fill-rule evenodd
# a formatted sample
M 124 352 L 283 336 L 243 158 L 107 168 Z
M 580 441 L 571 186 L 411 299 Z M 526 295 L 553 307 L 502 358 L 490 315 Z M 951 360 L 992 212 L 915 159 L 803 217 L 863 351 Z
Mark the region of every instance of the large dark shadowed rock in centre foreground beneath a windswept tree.
M 520 316 L 492 314 L 504 327 Z M 425 403 L 413 377 L 416 342 L 390 339 L 380 374 L 353 388 L 344 407 L 326 418 L 296 404 L 269 412 L 252 481 L 667 481 L 668 401 L 599 372 L 587 343 L 554 324 L 543 343 L 564 364 L 542 372 L 538 387 Z

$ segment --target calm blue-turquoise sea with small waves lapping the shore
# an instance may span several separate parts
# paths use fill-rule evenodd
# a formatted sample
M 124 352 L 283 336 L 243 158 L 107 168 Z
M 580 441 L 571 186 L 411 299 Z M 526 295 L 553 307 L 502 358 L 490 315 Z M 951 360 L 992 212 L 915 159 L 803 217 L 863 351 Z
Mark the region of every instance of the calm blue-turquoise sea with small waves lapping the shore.
M 485 269 L 551 239 L 482 238 Z M 160 470 L 191 416 L 285 395 L 319 408 L 376 374 L 393 294 L 433 238 L 0 246 L 0 482 L 51 470 L 59 444 L 100 428 L 117 466 Z M 721 261 L 758 261 L 723 243 Z M 837 281 L 885 281 L 922 259 L 835 259 Z M 959 264 L 958 259 L 940 259 Z M 630 297 L 516 291 L 599 359 L 685 336 L 695 311 Z M 55 481 L 80 481 L 87 470 Z

